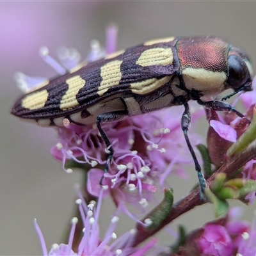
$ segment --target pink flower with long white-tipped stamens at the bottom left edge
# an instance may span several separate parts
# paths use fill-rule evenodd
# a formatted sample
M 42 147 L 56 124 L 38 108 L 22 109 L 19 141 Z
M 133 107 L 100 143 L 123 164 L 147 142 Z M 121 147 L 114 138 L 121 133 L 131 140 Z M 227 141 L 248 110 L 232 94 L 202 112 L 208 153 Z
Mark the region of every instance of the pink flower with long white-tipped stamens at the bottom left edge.
M 79 248 L 77 252 L 72 250 L 72 243 L 74 241 L 74 233 L 77 223 L 77 218 L 72 219 L 72 227 L 70 230 L 70 236 L 68 244 L 53 244 L 52 249 L 47 253 L 47 248 L 44 241 L 44 236 L 36 223 L 35 227 L 40 238 L 42 245 L 43 255 L 49 256 L 90 256 L 90 255 L 106 255 L 106 256 L 116 256 L 116 255 L 137 255 L 142 256 L 148 252 L 148 250 L 154 248 L 156 244 L 156 239 L 152 239 L 147 244 L 139 247 L 132 247 L 134 240 L 134 235 L 136 234 L 135 230 L 130 230 L 120 237 L 117 237 L 115 234 L 116 224 L 119 221 L 117 216 L 118 210 L 115 212 L 114 216 L 109 221 L 109 227 L 106 231 L 106 234 L 103 239 L 100 239 L 100 227 L 99 227 L 99 214 L 100 214 L 100 205 L 102 202 L 103 190 L 100 192 L 99 201 L 96 205 L 96 202 L 90 202 L 86 205 L 83 199 L 77 200 L 79 204 L 79 211 L 81 214 L 81 219 L 84 226 L 84 234 L 79 243 Z

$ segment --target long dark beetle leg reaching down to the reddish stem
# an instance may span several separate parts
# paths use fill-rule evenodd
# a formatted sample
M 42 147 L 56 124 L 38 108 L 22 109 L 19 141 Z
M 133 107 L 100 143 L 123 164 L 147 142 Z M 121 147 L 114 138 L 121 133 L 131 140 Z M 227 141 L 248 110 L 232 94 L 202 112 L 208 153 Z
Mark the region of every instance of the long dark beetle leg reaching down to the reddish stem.
M 184 103 L 184 107 L 185 107 L 185 111 L 182 114 L 182 118 L 181 118 L 181 128 L 182 128 L 186 143 L 188 145 L 189 152 L 190 152 L 191 156 L 193 157 L 193 160 L 194 160 L 194 163 L 195 163 L 195 169 L 196 169 L 196 172 L 197 172 L 197 175 L 198 175 L 198 180 L 199 180 L 200 198 L 203 199 L 204 198 L 204 189 L 205 189 L 204 174 L 201 171 L 201 166 L 198 163 L 195 151 L 193 150 L 193 147 L 192 147 L 192 145 L 189 141 L 189 138 L 188 138 L 188 127 L 191 124 L 191 113 L 190 113 L 190 110 L 189 110 L 188 103 Z

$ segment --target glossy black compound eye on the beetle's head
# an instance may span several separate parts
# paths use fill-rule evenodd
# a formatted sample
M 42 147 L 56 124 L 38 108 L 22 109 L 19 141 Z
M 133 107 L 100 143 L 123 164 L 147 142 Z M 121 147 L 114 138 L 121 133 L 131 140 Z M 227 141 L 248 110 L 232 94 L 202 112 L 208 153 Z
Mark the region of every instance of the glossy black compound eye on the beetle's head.
M 230 88 L 237 90 L 244 85 L 248 79 L 248 68 L 244 61 L 238 56 L 228 58 L 228 79 L 227 84 Z

